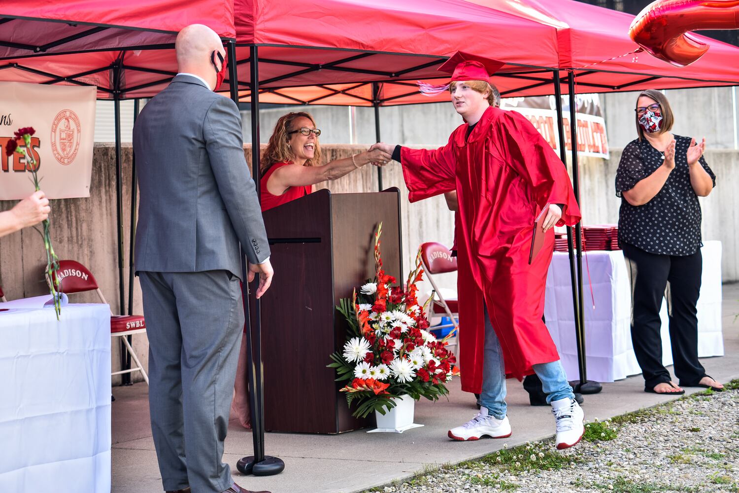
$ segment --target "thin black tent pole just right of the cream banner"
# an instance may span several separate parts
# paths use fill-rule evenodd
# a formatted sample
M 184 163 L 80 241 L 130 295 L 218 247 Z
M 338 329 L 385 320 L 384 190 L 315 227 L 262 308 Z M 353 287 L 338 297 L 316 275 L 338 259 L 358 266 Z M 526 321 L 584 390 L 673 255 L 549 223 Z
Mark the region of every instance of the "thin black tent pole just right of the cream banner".
M 125 313 L 126 294 L 123 286 L 123 174 L 120 166 L 120 60 L 113 64 L 113 110 L 115 112 L 115 212 L 118 235 L 118 313 Z M 120 341 L 120 369 L 131 367 L 126 345 Z M 123 385 L 132 385 L 131 373 L 123 373 Z

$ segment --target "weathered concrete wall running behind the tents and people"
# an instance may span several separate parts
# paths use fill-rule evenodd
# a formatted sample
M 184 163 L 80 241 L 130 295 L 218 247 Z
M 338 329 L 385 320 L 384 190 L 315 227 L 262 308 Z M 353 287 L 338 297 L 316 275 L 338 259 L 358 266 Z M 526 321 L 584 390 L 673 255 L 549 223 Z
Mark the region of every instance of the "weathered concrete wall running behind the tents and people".
M 734 109 L 732 89 L 705 89 L 703 98 L 692 101 L 683 92 L 670 94 L 675 106 L 678 124 L 675 132 L 698 135 L 704 131 L 709 139 L 706 160 L 718 177 L 717 188 L 706 199 L 701 199 L 704 210 L 704 239 L 723 242 L 723 279 L 739 280 L 739 152 L 734 149 Z M 607 129 L 612 146 L 611 159 L 583 159 L 580 162 L 582 203 L 585 224 L 616 222 L 619 199 L 613 193 L 613 182 L 620 158 L 620 149 L 633 138 L 633 120 L 630 111 L 636 95 L 606 95 L 605 112 Z M 685 101 L 682 101 L 684 98 Z M 727 109 L 728 106 L 728 109 Z M 701 107 L 701 112 L 689 108 Z M 267 109 L 262 112 L 261 140 L 268 140 L 276 118 L 287 109 Z M 374 112 L 367 108 L 315 107 L 310 109 L 323 129 L 321 143 L 327 160 L 347 157 L 367 149 L 375 141 Z M 352 111 L 354 111 L 352 113 Z M 353 116 L 352 116 L 353 115 Z M 624 116 L 625 115 L 625 116 Z M 714 115 L 714 116 L 712 116 Z M 717 120 L 716 116 L 720 120 Z M 249 140 L 249 115 L 243 115 L 245 140 Z M 432 104 L 420 106 L 396 106 L 381 109 L 383 138 L 387 142 L 409 146 L 435 147 L 446 143 L 449 133 L 460 123 L 451 106 Z M 712 123 L 713 122 L 713 123 Z M 715 123 L 715 124 L 714 124 Z M 681 129 L 680 125 L 684 125 Z M 709 131 L 712 132 L 709 134 Z M 363 142 L 363 145 L 328 145 L 330 143 Z M 723 146 L 723 149 L 720 149 Z M 250 146 L 246 146 L 247 159 L 251 159 Z M 116 239 L 115 210 L 115 161 L 111 144 L 96 144 L 92 171 L 91 197 L 87 199 L 54 200 L 52 202 L 52 240 L 60 258 L 77 259 L 90 268 L 98 279 L 104 296 L 114 313 L 118 306 L 118 245 Z M 130 217 L 130 144 L 123 146 L 123 197 L 124 197 L 124 249 L 129 245 Z M 732 172 L 734 171 L 734 172 Z M 403 185 L 403 177 L 397 163 L 384 167 L 384 186 L 401 189 L 401 220 L 403 224 L 403 272 L 407 273 L 422 242 L 437 241 L 451 244 L 454 229 L 453 214 L 447 210 L 442 197 L 434 197 L 410 204 Z M 322 183 L 316 188 L 330 188 L 333 193 L 375 191 L 378 189 L 377 169 L 372 166 L 332 183 Z M 29 188 L 29 192 L 30 192 Z M 7 210 L 12 202 L 0 202 L 0 210 Z M 126 293 L 128 283 L 128 256 L 124 259 Z M 41 237 L 31 230 L 21 231 L 0 239 L 0 285 L 8 299 L 38 296 L 47 293 L 44 283 L 44 248 Z M 279 275 L 279 273 L 278 273 Z M 438 276 L 442 288 L 454 288 L 454 274 Z M 429 290 L 428 285 L 421 292 Z M 134 313 L 143 313 L 137 281 L 134 283 Z M 97 302 L 94 294 L 73 295 L 74 302 Z M 146 366 L 148 344 L 146 338 L 134 337 L 134 350 Z M 119 368 L 118 347 L 113 348 L 112 365 Z M 139 377 L 134 375 L 135 379 Z M 120 377 L 114 379 L 114 383 Z

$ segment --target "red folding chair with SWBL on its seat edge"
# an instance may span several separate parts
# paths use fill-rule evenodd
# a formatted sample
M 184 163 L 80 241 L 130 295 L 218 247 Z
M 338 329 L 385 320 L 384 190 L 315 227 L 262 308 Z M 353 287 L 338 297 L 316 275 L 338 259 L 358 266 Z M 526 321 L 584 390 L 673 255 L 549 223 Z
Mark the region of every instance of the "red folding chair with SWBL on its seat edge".
M 95 276 L 92 276 L 92 273 L 80 262 L 75 262 L 74 260 L 60 260 L 58 277 L 61 280 L 62 293 L 72 294 L 84 293 L 85 291 L 95 291 L 95 293 L 98 293 L 98 298 L 100 298 L 102 303 L 108 303 L 105 301 L 103 292 L 98 288 L 98 282 L 95 281 Z M 121 340 L 123 340 L 126 351 L 128 351 L 137 365 L 135 368 L 131 368 L 130 370 L 113 372 L 111 373 L 111 376 L 120 375 L 121 373 L 141 372 L 144 381 L 149 385 L 149 375 L 146 375 L 141 362 L 136 357 L 136 353 L 134 353 L 133 347 L 131 347 L 129 340 L 126 338 L 126 336 L 141 333 L 146 333 L 146 322 L 144 322 L 143 316 L 113 315 L 111 312 L 110 336 L 112 338 L 120 337 Z

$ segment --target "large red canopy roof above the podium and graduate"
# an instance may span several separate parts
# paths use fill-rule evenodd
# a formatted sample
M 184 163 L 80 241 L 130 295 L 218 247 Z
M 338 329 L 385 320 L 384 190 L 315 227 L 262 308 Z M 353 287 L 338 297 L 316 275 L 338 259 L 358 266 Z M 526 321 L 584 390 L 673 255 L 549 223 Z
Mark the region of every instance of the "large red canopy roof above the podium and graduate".
M 737 47 L 699 36 L 711 46 L 706 55 L 689 67 L 673 67 L 644 52 L 630 54 L 638 48 L 627 35 L 633 16 L 579 1 L 396 3 L 333 0 L 316 7 L 236 0 L 239 63 L 247 63 L 246 47 L 259 46 L 259 100 L 287 104 L 446 101 L 444 94 L 429 98 L 415 90 L 417 79 L 437 77 L 438 65 L 420 67 L 410 60 L 446 58 L 462 46 L 509 62 L 494 76 L 509 97 L 552 94 L 554 69 L 575 69 L 581 92 L 739 84 Z M 310 30 L 296 30 L 301 25 Z M 336 64 L 342 56 L 347 61 Z M 239 80 L 248 85 L 245 71 Z M 561 82 L 567 92 L 567 81 Z M 373 89 L 372 83 L 378 86 Z M 250 95 L 239 92 L 241 101 Z

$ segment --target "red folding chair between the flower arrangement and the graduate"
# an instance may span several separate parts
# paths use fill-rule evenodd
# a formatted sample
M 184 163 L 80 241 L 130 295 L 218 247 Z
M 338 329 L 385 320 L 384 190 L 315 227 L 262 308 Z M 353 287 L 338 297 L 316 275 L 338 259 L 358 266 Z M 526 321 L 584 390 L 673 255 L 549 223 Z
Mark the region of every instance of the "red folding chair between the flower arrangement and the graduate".
M 426 277 L 431 282 L 432 290 L 431 296 L 432 301 L 429 303 L 429 323 L 434 316 L 446 315 L 452 320 L 451 324 L 436 325 L 434 329 L 440 329 L 445 327 L 454 327 L 452 332 L 456 333 L 459 328 L 459 304 L 457 299 L 449 298 L 444 299 L 439 290 L 436 282 L 434 281 L 435 274 L 456 272 L 457 271 L 457 258 L 452 256 L 452 252 L 449 248 L 442 245 L 441 243 L 428 242 L 420 245 L 420 261 L 423 265 L 423 271 L 426 272 Z

